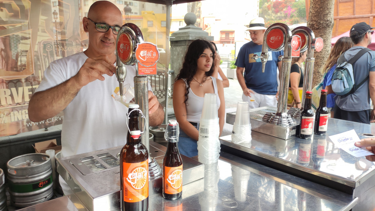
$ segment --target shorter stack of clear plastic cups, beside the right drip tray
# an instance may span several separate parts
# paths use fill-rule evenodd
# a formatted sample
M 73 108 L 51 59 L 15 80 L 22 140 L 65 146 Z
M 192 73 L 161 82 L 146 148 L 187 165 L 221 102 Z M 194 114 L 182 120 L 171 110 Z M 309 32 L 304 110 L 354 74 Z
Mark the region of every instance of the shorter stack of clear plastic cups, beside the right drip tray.
M 251 142 L 251 124 L 248 102 L 237 103 L 236 119 L 234 120 L 232 131 L 232 142 L 235 144 Z

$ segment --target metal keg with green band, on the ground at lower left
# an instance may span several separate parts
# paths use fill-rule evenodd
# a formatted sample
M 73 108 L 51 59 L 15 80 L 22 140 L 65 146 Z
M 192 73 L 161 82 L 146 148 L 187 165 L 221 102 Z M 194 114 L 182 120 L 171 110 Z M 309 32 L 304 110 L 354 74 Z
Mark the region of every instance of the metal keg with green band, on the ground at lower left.
M 33 153 L 15 157 L 6 164 L 10 204 L 27 207 L 51 199 L 53 195 L 51 158 Z

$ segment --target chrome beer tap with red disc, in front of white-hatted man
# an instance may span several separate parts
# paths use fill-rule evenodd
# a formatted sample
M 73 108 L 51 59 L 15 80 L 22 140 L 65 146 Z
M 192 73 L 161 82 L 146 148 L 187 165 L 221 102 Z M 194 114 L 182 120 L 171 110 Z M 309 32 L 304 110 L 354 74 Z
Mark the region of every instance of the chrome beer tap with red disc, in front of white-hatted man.
M 295 124 L 290 115 L 287 114 L 287 100 L 288 100 L 288 84 L 290 78 L 290 67 L 292 62 L 292 32 L 289 27 L 283 23 L 272 24 L 263 36 L 262 54 L 258 56 L 254 54 L 252 59 L 261 58 L 262 60 L 262 72 L 266 66 L 268 60 L 268 51 L 281 51 L 284 48 L 284 56 L 279 56 L 282 60 L 282 67 L 280 70 L 280 89 L 277 112 L 266 113 L 263 117 L 263 121 L 267 121 L 275 125 L 293 125 Z

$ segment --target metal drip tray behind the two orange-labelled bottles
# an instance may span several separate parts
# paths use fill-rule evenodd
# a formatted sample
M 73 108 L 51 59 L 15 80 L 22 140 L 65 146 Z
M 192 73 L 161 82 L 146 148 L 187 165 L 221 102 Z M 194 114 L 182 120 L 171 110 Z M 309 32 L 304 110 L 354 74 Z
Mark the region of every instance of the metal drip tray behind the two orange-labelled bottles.
M 87 209 L 120 208 L 120 160 L 122 146 L 57 159 L 57 171 Z M 162 166 L 165 146 L 150 142 L 150 156 Z M 183 185 L 204 177 L 204 165 L 181 155 Z M 161 193 L 162 178 L 149 180 L 149 197 Z

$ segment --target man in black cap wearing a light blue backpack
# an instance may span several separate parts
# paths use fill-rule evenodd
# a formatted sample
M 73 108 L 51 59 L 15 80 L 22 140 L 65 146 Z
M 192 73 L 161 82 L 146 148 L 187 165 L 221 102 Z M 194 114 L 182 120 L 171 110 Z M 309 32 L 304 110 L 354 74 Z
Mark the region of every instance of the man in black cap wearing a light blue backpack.
M 375 101 L 375 53 L 367 48 L 374 33 L 365 22 L 350 29 L 354 46 L 343 53 L 332 75 L 334 118 L 370 124 L 375 122 L 370 98 Z

